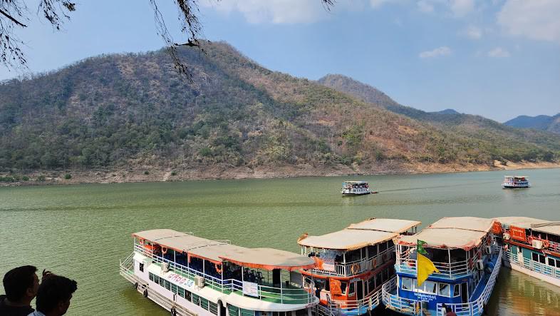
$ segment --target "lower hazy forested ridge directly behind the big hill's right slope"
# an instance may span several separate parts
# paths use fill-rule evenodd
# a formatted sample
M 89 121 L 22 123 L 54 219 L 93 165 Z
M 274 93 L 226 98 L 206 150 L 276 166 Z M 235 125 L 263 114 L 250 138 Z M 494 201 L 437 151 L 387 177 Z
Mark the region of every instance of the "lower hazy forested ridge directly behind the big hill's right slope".
M 459 134 L 493 144 L 494 156 L 507 160 L 554 160 L 550 153 L 537 153 L 532 147 L 548 148 L 558 153 L 560 137 L 554 133 L 520 130 L 492 121 L 482 116 L 458 113 L 447 109 L 439 112 L 425 112 L 410 106 L 403 106 L 389 98 L 377 88 L 369 86 L 353 78 L 329 74 L 318 80 L 319 83 L 337 91 L 348 93 L 362 101 L 386 108 L 416 121 L 427 123 L 450 134 Z M 380 93 L 383 97 L 379 98 Z M 388 101 L 389 100 L 389 101 Z

